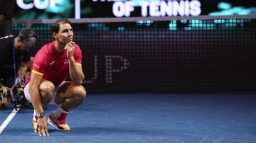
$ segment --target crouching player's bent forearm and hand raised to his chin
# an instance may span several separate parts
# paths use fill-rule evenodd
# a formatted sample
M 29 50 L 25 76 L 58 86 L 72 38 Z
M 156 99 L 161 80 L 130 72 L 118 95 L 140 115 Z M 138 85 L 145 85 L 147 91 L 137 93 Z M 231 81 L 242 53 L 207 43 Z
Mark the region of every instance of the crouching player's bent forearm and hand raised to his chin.
M 81 65 L 75 63 L 75 58 L 73 56 L 75 49 L 75 43 L 68 43 L 65 46 L 65 50 L 67 50 L 68 60 L 69 60 L 69 72 L 70 79 L 77 86 L 82 84 L 83 79 L 85 79 L 85 75 L 82 72 Z

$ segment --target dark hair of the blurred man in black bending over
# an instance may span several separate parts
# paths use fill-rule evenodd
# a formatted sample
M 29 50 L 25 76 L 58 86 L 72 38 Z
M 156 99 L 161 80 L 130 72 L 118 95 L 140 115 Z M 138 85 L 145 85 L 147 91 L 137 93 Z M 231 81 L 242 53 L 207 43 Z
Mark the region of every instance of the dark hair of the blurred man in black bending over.
M 36 46 L 36 33 L 31 28 L 21 30 L 18 33 L 18 37 L 20 38 L 21 42 L 28 43 L 29 47 Z

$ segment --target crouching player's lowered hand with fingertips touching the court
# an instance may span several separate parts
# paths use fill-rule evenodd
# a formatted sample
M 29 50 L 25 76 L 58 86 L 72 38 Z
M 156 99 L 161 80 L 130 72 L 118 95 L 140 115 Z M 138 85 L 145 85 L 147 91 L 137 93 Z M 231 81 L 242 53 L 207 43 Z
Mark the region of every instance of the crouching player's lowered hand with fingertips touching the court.
M 38 118 L 36 132 L 39 136 L 42 136 L 41 134 L 43 134 L 43 136 L 49 136 L 46 117 Z

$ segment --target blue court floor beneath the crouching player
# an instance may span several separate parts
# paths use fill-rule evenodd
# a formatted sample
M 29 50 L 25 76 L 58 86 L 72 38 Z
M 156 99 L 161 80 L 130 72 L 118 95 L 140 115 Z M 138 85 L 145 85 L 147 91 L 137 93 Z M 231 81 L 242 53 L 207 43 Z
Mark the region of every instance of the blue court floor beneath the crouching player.
M 0 110 L 0 125 L 12 110 Z M 18 110 L 0 142 L 256 142 L 253 94 L 88 94 L 68 115 L 71 130 L 48 125 L 50 137 L 33 132 L 32 115 Z

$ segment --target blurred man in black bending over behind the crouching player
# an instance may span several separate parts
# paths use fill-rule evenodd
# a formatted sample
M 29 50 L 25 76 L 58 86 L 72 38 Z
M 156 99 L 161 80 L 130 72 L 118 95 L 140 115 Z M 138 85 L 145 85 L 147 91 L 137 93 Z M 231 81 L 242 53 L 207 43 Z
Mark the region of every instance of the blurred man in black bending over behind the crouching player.
M 15 77 L 23 79 L 26 71 L 31 67 L 33 58 L 30 50 L 35 46 L 36 33 L 31 28 L 21 30 L 17 37 L 9 35 L 0 38 L 0 92 L 3 96 L 0 98 L 0 109 L 9 105 L 8 91 L 13 85 L 13 80 L 10 79 Z

